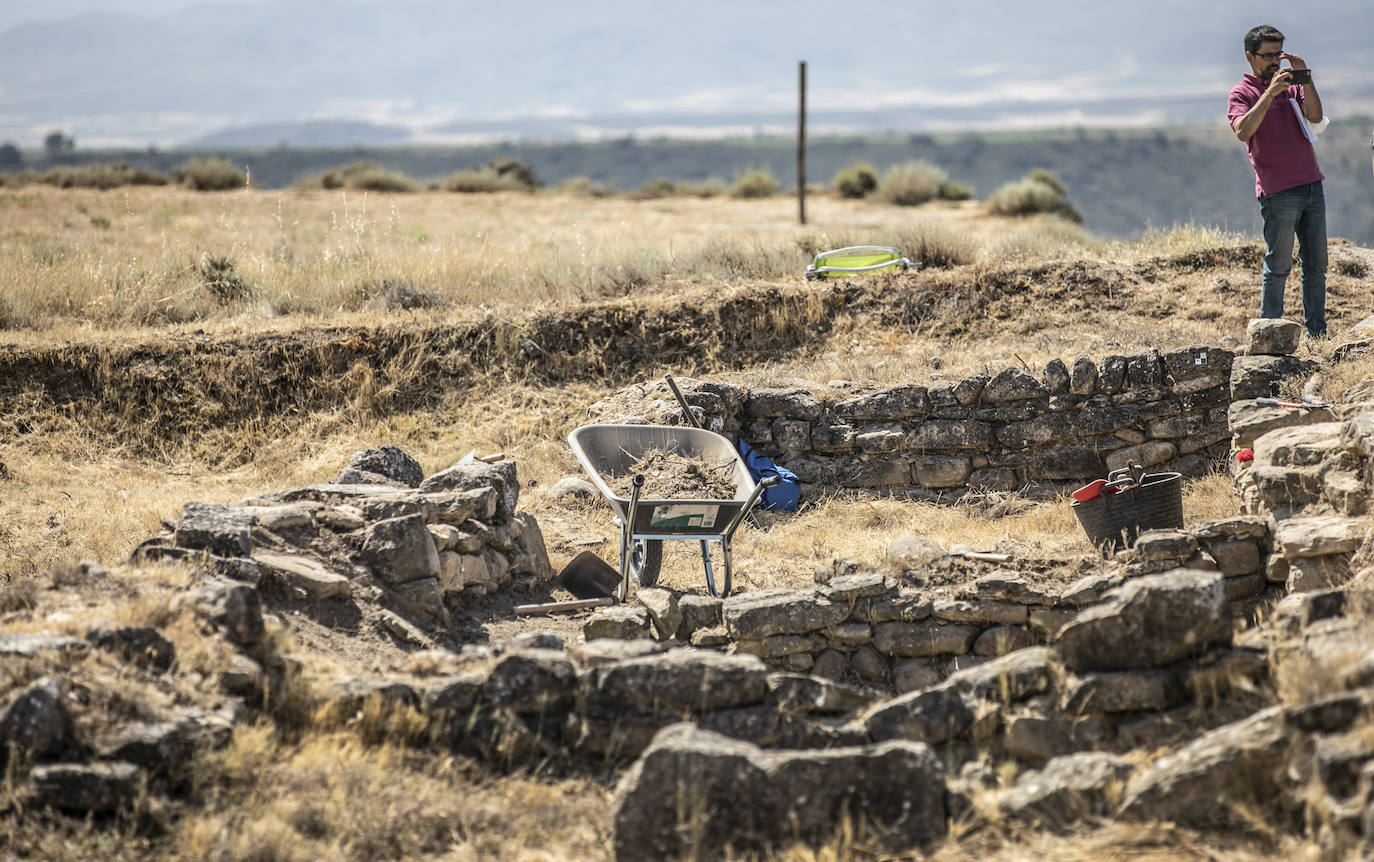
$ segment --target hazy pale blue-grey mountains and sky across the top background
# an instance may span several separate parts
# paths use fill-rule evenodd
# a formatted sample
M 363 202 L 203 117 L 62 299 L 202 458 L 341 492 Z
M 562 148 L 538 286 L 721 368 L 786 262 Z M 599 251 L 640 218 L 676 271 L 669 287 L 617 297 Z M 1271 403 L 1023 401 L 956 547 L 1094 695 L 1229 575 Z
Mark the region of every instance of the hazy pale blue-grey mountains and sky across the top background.
M 376 146 L 1220 121 L 1253 4 L 48 0 L 0 12 L 0 140 Z M 1374 114 L 1374 4 L 1272 21 Z

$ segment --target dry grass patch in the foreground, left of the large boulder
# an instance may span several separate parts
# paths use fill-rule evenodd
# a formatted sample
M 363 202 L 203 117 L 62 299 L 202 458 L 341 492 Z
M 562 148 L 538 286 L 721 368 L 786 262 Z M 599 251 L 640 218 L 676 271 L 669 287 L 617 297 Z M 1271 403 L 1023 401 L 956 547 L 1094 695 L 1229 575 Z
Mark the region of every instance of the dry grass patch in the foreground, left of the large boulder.
M 576 780 L 486 778 L 464 763 L 350 734 L 283 744 L 238 730 L 206 758 L 205 810 L 179 822 L 174 859 L 606 858 L 607 793 Z

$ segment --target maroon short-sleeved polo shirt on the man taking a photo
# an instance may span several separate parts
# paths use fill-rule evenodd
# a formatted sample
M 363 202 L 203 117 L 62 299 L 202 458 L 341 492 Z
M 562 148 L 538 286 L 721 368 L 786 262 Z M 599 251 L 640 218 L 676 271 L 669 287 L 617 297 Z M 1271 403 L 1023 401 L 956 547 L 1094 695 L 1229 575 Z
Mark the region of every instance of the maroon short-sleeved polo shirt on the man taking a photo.
M 1231 91 L 1226 106 L 1226 118 L 1235 128 L 1235 121 L 1254 107 L 1268 84 L 1263 78 L 1248 74 Z M 1294 186 L 1305 186 L 1322 179 L 1316 166 L 1316 150 L 1303 133 L 1303 126 L 1293 113 L 1293 103 L 1303 107 L 1303 88 L 1289 87 L 1264 114 L 1259 131 L 1245 142 L 1250 153 L 1250 166 L 1254 168 L 1254 195 L 1271 195 Z

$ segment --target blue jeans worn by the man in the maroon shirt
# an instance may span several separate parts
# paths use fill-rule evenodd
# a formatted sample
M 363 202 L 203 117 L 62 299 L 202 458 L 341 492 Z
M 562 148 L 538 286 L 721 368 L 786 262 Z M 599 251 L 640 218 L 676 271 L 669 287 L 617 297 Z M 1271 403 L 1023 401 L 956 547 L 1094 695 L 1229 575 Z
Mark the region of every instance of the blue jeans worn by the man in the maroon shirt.
M 1326 334 L 1326 195 L 1308 183 L 1260 197 L 1264 216 L 1261 318 L 1283 316 L 1283 285 L 1293 268 L 1293 238 L 1303 261 L 1303 323 L 1308 335 Z

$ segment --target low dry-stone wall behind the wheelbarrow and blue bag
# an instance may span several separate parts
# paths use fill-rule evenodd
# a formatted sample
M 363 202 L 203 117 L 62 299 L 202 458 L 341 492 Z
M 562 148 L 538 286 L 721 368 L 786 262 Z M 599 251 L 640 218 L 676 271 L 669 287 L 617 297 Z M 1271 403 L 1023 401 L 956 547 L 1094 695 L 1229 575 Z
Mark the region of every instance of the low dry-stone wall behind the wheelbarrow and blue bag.
M 877 390 L 680 385 L 705 428 L 745 439 L 805 484 L 921 495 L 1083 483 L 1128 461 L 1200 476 L 1226 455 L 1234 359 L 1204 345 Z M 588 412 L 682 422 L 664 384 L 631 386 Z

